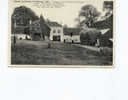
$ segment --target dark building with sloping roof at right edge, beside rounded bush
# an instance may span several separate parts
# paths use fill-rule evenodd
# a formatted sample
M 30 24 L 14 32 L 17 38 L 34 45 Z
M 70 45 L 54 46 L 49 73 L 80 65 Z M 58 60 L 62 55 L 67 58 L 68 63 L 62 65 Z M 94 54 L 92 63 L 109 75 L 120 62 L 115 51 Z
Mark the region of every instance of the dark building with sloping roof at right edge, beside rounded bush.
M 109 16 L 104 20 L 100 20 L 94 23 L 94 28 L 101 31 L 101 46 L 110 46 L 113 45 L 113 15 Z

